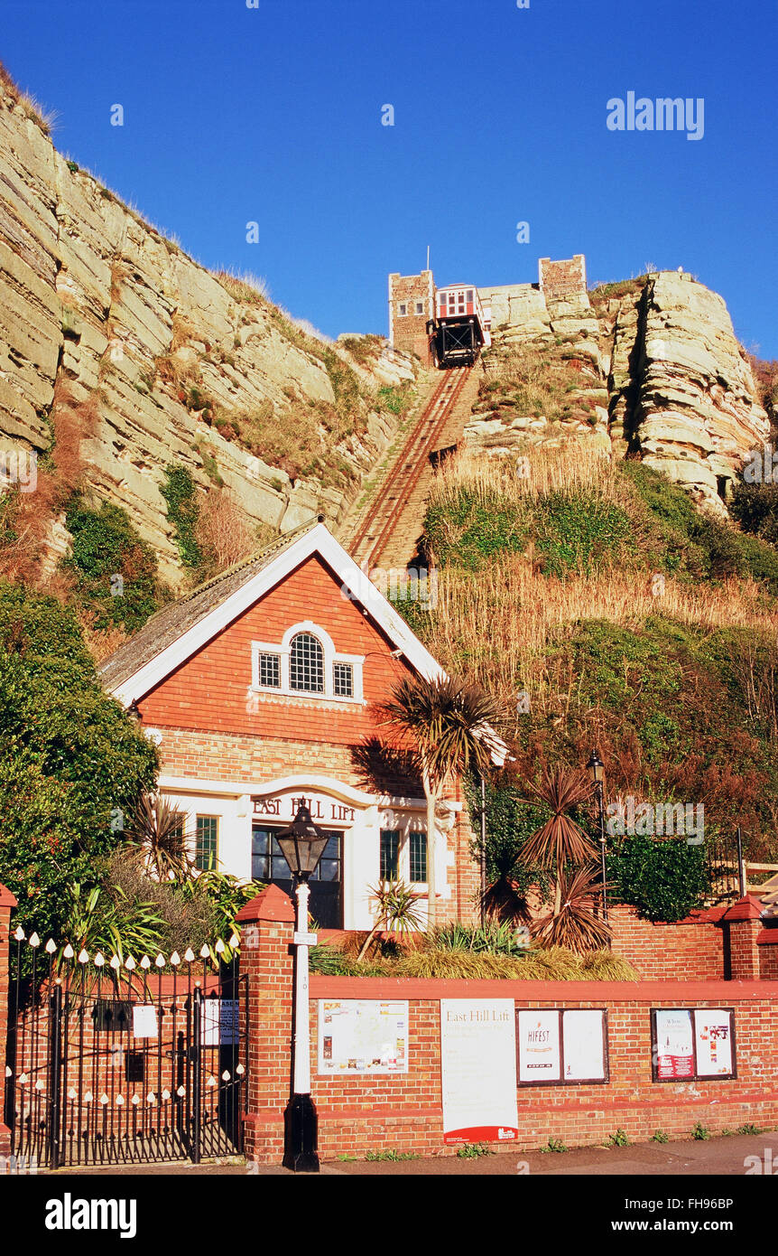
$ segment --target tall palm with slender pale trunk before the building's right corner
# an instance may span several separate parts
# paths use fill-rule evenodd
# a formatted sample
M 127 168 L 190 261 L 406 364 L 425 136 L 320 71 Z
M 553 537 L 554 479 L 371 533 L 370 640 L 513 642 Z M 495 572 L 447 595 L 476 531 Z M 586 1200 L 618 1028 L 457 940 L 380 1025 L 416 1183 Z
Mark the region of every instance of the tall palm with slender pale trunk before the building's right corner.
M 435 808 L 447 777 L 471 769 L 482 775 L 506 749 L 491 725 L 496 701 L 476 683 L 453 676 L 405 677 L 381 707 L 384 722 L 412 741 L 427 799 L 428 927 L 435 924 Z

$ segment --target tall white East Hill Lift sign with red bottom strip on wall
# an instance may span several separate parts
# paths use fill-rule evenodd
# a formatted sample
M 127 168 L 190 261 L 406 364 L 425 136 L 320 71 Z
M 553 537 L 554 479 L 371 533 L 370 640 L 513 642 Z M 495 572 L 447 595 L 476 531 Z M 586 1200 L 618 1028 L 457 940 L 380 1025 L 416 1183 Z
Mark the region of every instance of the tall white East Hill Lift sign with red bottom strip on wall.
M 444 1143 L 518 1138 L 512 999 L 440 1000 Z

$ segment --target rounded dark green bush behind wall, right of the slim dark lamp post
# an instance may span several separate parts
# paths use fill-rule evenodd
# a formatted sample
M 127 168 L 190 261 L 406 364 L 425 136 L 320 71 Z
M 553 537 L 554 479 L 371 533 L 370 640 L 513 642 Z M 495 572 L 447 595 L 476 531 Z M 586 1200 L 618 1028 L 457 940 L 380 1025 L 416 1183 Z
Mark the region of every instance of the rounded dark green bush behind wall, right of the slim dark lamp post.
M 683 838 L 624 838 L 607 855 L 614 896 L 649 921 L 681 921 L 710 888 L 705 847 Z

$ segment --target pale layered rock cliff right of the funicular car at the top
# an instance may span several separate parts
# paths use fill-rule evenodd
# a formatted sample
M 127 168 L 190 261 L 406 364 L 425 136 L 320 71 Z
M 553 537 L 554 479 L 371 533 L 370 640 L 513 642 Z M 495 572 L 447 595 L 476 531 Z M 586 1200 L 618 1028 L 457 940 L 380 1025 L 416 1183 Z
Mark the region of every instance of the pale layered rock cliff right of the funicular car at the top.
M 708 510 L 727 514 L 729 485 L 767 440 L 769 423 L 717 293 L 690 275 L 661 271 L 595 290 L 592 300 L 576 294 L 551 301 L 522 285 L 502 304 L 493 299 L 492 310 L 493 350 L 484 354 L 486 386 L 464 430 L 468 443 L 504 453 L 594 441 L 616 457 L 637 453 Z M 526 406 L 538 396 L 533 355 L 545 364 L 537 373 L 552 409 Z M 566 377 L 560 360 L 570 365 Z

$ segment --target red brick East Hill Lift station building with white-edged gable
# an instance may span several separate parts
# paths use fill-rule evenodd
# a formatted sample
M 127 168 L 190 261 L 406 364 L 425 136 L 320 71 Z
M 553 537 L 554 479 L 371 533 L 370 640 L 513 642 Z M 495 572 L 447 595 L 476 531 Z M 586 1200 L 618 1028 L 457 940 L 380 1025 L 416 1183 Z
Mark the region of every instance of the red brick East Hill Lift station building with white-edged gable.
M 378 752 L 376 703 L 440 668 L 321 522 L 158 612 L 102 673 L 158 744 L 198 867 L 287 889 L 274 836 L 305 799 L 330 833 L 311 883 L 321 926 L 369 928 L 381 875 L 428 893 L 423 790 Z M 474 918 L 458 788 L 434 842 L 439 918 Z

